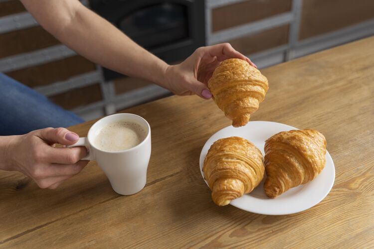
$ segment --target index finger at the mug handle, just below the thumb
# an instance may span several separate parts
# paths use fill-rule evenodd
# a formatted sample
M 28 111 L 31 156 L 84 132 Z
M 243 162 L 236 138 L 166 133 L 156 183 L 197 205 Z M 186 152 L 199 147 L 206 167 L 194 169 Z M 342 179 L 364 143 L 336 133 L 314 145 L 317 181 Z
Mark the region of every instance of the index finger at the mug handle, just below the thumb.
M 87 155 L 87 149 L 84 146 L 71 148 L 45 148 L 44 157 L 50 163 L 75 164 Z

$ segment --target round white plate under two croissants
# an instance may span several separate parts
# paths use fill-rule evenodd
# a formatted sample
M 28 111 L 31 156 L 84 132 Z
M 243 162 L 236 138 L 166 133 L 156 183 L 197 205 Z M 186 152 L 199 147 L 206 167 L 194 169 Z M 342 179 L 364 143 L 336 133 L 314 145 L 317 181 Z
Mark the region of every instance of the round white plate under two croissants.
M 251 121 L 245 126 L 234 128 L 232 126 L 225 127 L 214 133 L 205 143 L 200 154 L 200 171 L 204 158 L 210 145 L 219 138 L 240 136 L 251 141 L 261 150 L 264 155 L 265 140 L 270 136 L 291 129 L 297 129 L 290 125 L 280 124 L 267 121 Z M 275 199 L 270 199 L 264 192 L 264 180 L 249 194 L 232 200 L 231 205 L 257 214 L 264 215 L 286 215 L 304 211 L 313 207 L 322 201 L 333 187 L 335 180 L 335 167 L 333 159 L 328 151 L 326 151 L 326 165 L 322 172 L 313 181 L 304 185 L 292 188 Z M 205 181 L 207 184 L 207 182 Z

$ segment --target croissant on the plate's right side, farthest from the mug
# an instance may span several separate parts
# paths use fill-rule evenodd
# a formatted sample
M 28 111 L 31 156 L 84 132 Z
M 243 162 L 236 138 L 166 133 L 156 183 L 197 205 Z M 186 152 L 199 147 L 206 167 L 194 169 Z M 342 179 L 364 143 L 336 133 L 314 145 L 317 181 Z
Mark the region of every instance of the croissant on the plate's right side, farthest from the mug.
M 264 190 L 275 198 L 313 180 L 325 167 L 326 139 L 317 130 L 282 131 L 265 141 Z

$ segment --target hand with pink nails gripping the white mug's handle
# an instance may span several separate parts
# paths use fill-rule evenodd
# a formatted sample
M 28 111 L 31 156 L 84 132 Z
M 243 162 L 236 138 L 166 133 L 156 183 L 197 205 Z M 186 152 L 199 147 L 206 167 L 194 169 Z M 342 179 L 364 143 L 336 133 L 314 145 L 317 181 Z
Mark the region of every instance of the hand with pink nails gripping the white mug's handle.
M 54 189 L 78 174 L 87 160 L 85 147 L 55 147 L 74 144 L 79 136 L 66 128 L 45 128 L 25 135 L 1 138 L 2 169 L 17 170 L 32 178 L 40 188 Z M 6 146 L 4 140 L 7 140 Z

